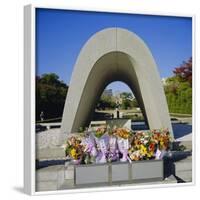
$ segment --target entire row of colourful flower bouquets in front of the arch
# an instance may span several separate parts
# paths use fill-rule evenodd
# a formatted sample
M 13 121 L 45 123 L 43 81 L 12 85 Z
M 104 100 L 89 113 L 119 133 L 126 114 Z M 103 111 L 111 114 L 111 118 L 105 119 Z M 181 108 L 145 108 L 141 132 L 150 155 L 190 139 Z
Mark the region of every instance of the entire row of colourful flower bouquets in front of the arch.
M 65 152 L 74 164 L 131 162 L 161 159 L 169 143 L 166 129 L 133 133 L 127 128 L 100 127 L 80 135 L 73 134 L 67 139 Z

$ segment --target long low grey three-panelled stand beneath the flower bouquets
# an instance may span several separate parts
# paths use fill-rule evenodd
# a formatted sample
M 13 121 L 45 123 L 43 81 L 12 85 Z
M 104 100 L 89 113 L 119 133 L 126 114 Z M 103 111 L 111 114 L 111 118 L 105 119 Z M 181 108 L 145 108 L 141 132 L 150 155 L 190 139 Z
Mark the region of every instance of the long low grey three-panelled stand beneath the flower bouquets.
M 163 160 L 74 165 L 75 186 L 114 185 L 120 183 L 161 181 Z

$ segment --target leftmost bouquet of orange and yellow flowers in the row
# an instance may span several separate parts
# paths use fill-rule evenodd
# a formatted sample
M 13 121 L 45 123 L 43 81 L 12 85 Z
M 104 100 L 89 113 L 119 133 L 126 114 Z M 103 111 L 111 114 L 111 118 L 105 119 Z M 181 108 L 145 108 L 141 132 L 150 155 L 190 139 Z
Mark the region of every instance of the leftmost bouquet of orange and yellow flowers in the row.
M 83 146 L 81 138 L 78 136 L 70 136 L 65 146 L 65 154 L 74 164 L 80 164 L 83 157 Z

